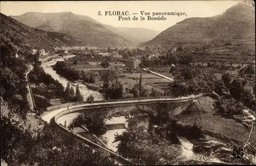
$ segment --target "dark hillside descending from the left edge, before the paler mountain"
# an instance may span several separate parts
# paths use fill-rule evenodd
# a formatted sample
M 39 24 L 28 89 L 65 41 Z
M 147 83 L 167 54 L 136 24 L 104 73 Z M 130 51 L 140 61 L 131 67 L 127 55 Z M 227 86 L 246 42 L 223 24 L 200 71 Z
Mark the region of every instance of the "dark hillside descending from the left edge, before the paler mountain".
M 84 45 L 73 36 L 47 32 L 30 28 L 19 21 L 0 13 L 1 18 L 1 46 L 12 45 L 18 50 L 22 44 L 30 44 L 32 48 L 46 48 L 48 46 L 81 46 Z

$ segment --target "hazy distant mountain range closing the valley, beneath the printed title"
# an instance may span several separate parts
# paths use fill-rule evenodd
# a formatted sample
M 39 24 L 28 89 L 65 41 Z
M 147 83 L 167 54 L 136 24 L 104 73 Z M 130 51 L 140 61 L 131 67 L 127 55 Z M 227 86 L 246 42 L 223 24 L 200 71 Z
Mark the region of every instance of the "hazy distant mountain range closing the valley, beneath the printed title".
M 80 38 L 88 44 L 104 48 L 134 46 L 156 37 L 160 32 L 145 28 L 115 28 L 86 16 L 71 12 L 28 12 L 10 16 L 25 25 L 45 31 L 63 32 Z

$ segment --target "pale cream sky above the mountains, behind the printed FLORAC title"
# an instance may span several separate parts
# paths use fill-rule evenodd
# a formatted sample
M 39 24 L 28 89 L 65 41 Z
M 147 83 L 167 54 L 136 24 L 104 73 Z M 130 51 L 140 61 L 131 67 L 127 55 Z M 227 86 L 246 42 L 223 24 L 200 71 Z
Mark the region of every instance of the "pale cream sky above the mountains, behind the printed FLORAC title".
M 22 15 L 27 12 L 58 13 L 72 12 L 87 15 L 97 21 L 113 27 L 138 27 L 164 31 L 189 17 L 210 17 L 223 13 L 226 9 L 242 1 L 37 1 L 37 2 L 1 2 L 1 13 Z M 98 15 L 101 11 L 102 15 Z M 118 16 L 105 15 L 105 11 L 129 11 L 130 18 L 139 20 L 118 20 Z M 141 11 L 150 12 L 182 12 L 184 16 L 166 15 L 166 20 L 140 20 Z M 134 15 L 133 13 L 138 13 Z M 128 16 L 122 16 L 128 17 Z M 154 16 L 158 17 L 158 16 Z M 125 19 L 125 18 L 124 18 Z

